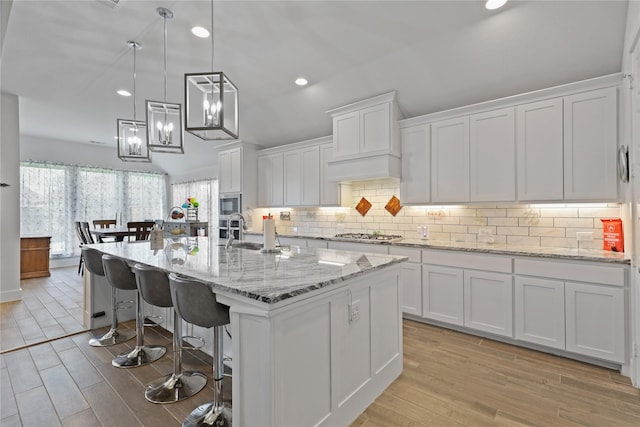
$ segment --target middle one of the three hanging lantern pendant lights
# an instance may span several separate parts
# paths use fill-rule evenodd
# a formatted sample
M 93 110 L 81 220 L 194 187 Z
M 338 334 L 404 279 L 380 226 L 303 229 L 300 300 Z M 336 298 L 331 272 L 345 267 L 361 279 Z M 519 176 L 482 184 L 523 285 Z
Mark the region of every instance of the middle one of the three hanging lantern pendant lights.
M 156 9 L 164 21 L 164 98 L 146 101 L 147 140 L 149 150 L 159 153 L 184 153 L 182 144 L 182 106 L 167 102 L 167 19 L 173 12 L 164 7 Z

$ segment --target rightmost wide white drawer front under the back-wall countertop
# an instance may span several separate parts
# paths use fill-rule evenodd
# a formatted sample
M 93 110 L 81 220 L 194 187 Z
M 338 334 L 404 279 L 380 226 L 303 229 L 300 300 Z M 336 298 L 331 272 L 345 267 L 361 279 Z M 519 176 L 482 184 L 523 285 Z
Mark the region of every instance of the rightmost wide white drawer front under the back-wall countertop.
M 516 259 L 514 269 L 516 274 L 526 276 L 624 286 L 624 267 Z

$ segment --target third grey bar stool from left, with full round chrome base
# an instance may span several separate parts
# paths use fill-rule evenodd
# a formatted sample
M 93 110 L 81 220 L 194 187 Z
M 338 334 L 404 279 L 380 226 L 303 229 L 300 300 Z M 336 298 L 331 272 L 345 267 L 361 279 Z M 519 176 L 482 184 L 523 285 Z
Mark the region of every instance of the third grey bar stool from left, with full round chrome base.
M 142 298 L 158 307 L 173 307 L 169 278 L 164 271 L 136 264 L 133 267 Z M 175 309 L 174 309 L 175 313 Z M 174 403 L 198 393 L 207 384 L 202 372 L 182 370 L 182 322 L 177 314 L 173 321 L 173 373 L 153 381 L 144 397 L 153 403 Z

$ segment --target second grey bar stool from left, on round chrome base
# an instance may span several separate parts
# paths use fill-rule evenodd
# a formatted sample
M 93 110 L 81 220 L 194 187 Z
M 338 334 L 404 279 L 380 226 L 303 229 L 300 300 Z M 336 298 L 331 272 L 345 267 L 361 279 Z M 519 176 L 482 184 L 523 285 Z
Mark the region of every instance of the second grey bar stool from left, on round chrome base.
M 161 345 L 146 346 L 144 340 L 144 313 L 136 276 L 127 263 L 111 255 L 102 255 L 102 265 L 107 281 L 113 289 L 136 290 L 136 346 L 125 353 L 117 355 L 111 364 L 117 368 L 135 368 L 160 359 L 167 352 Z

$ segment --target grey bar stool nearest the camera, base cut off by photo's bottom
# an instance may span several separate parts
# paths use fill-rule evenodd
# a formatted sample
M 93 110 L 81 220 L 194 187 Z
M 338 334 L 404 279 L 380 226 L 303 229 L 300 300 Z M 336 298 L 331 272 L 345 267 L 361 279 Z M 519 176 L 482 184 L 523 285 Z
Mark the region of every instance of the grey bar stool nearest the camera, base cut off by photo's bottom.
M 213 328 L 213 402 L 198 406 L 182 423 L 183 427 L 205 425 L 231 426 L 231 408 L 222 401 L 224 354 L 222 337 L 229 323 L 229 307 L 216 301 L 211 288 L 204 283 L 169 275 L 171 298 L 178 316 L 203 328 Z

